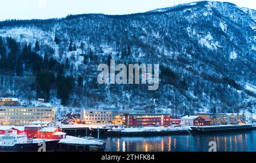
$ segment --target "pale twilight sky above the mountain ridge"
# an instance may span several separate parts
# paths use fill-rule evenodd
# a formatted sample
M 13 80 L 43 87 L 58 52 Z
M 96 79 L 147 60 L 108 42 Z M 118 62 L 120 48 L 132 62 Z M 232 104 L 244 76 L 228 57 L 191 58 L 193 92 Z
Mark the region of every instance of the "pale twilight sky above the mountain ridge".
M 132 14 L 197 0 L 6 0 L 0 20 L 62 18 L 68 14 Z M 219 0 L 222 1 L 222 0 Z M 223 0 L 256 10 L 255 0 Z

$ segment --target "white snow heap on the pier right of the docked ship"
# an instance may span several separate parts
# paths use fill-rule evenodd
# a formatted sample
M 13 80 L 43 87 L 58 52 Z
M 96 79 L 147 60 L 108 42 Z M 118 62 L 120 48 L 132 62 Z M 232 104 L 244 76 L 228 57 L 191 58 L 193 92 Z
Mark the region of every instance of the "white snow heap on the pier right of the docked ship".
M 104 144 L 103 141 L 100 140 L 88 140 L 88 139 L 82 139 L 77 138 L 73 136 L 67 136 L 65 139 L 61 139 L 59 141 L 61 144 L 80 144 L 80 145 L 102 145 Z

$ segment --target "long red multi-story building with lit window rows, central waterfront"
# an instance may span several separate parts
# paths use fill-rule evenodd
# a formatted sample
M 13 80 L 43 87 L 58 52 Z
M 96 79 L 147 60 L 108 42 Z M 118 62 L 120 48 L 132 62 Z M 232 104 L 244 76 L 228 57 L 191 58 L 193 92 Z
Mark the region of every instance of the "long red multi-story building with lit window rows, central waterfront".
M 169 126 L 171 124 L 170 114 L 137 114 L 123 115 L 123 125 L 126 126 Z

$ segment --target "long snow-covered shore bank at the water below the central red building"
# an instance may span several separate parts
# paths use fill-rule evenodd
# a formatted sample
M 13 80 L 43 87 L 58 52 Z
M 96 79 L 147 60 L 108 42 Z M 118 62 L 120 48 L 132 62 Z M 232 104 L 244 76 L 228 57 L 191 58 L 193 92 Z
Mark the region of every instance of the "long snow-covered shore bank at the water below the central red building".
M 114 132 L 160 132 L 160 131 L 188 131 L 192 130 L 190 127 L 143 127 L 143 128 L 124 128 L 124 127 L 113 127 L 111 130 Z

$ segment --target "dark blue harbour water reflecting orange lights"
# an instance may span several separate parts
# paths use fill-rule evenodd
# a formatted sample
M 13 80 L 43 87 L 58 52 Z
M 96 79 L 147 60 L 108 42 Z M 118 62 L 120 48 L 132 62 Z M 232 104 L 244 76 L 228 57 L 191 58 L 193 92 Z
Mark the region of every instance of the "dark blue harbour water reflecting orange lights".
M 106 142 L 106 152 L 208 152 L 210 141 L 216 141 L 217 152 L 256 152 L 256 131 L 102 140 Z

